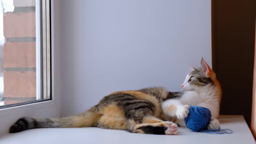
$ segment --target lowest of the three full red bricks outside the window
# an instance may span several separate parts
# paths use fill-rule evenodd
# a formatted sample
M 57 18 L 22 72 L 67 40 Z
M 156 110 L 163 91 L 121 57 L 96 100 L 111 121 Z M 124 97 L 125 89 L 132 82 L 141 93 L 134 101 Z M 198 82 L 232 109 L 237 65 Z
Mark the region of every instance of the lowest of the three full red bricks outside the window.
M 36 97 L 36 72 L 3 72 L 4 97 Z

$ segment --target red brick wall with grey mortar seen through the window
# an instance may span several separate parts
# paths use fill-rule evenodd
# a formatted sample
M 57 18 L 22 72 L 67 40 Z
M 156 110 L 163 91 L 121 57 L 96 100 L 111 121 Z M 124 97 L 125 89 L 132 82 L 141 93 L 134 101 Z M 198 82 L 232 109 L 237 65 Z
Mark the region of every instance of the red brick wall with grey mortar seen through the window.
M 36 100 L 35 0 L 13 0 L 3 15 L 4 104 Z

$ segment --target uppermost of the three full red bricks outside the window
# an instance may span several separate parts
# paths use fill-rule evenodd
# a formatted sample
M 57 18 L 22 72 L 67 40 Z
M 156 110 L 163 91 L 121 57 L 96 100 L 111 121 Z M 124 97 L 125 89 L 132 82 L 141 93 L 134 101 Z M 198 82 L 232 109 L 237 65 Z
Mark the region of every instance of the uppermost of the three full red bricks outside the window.
M 3 36 L 5 38 L 36 37 L 36 13 L 4 13 Z

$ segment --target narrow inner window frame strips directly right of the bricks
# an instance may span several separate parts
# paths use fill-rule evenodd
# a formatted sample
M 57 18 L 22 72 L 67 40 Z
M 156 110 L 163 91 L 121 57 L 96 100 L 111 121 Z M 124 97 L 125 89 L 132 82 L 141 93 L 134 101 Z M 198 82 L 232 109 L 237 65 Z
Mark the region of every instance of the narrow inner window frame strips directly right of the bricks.
M 2 105 L 0 109 L 51 100 L 51 0 L 36 2 L 36 100 Z

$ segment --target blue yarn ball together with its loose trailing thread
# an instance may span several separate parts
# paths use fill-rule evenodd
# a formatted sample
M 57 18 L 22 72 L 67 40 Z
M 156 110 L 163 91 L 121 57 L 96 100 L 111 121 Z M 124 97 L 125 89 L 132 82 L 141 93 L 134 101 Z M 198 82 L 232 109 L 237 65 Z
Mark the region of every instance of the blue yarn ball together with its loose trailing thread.
M 210 123 L 211 112 L 208 108 L 200 106 L 191 106 L 187 118 L 185 118 L 185 124 L 187 128 L 194 132 L 205 132 L 209 134 L 231 134 L 230 129 L 214 129 L 207 130 L 207 126 Z

